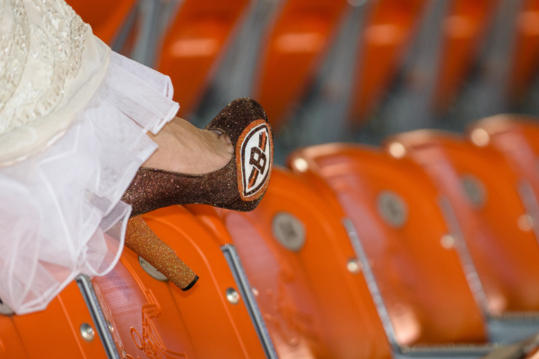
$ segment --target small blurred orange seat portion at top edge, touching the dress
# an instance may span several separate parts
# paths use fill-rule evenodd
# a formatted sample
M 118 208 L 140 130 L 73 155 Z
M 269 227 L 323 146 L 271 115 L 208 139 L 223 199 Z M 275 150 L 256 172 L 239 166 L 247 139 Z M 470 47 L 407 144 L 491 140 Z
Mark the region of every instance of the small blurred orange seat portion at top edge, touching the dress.
M 93 35 L 111 46 L 120 26 L 136 0 L 67 0 L 82 19 L 92 27 Z

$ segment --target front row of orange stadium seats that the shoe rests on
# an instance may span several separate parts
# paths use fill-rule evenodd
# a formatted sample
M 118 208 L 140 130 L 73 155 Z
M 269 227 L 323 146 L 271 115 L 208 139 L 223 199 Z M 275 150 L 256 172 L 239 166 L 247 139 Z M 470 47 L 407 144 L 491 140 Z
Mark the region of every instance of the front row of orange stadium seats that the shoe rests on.
M 0 357 L 524 358 L 504 345 L 539 332 L 538 144 L 500 115 L 296 151 L 255 211 L 143 216 L 192 289 L 124 249 L 45 311 L 0 305 Z

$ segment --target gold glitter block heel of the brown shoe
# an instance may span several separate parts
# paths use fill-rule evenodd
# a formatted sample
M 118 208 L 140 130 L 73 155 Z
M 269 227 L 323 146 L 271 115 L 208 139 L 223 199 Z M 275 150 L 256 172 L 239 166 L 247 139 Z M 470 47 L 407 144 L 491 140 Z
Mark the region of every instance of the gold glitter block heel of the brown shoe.
M 140 215 L 127 223 L 125 246 L 154 266 L 182 291 L 191 289 L 198 280 L 198 275 L 153 233 Z

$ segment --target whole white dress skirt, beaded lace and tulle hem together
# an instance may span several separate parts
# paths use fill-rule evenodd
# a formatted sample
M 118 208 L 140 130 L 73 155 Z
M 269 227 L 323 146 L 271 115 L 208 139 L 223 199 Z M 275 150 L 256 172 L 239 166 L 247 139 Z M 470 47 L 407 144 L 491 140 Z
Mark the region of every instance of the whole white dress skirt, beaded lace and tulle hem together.
M 44 309 L 110 271 L 120 201 L 178 111 L 169 77 L 112 52 L 63 0 L 0 0 L 0 299 Z

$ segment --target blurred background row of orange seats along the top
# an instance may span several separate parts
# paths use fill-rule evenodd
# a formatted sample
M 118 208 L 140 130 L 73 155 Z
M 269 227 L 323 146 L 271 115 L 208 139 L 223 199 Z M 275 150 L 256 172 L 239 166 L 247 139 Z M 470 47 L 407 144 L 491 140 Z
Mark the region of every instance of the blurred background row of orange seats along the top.
M 484 68 L 488 88 L 498 88 L 491 93 L 502 97 L 498 103 L 514 105 L 524 99 L 539 64 L 537 0 L 68 3 L 115 50 L 171 77 L 180 116 L 195 112 L 201 101 L 220 109 L 230 98 L 249 96 L 266 108 L 276 130 L 317 82 L 332 101 L 343 97 L 342 116 L 361 125 L 399 73 L 408 79 L 406 99 L 426 91 L 421 106 L 447 113 L 474 66 Z M 346 79 L 324 77 L 339 67 L 346 67 Z M 219 94 L 205 99 L 208 89 Z M 404 111 L 408 103 L 397 106 Z

